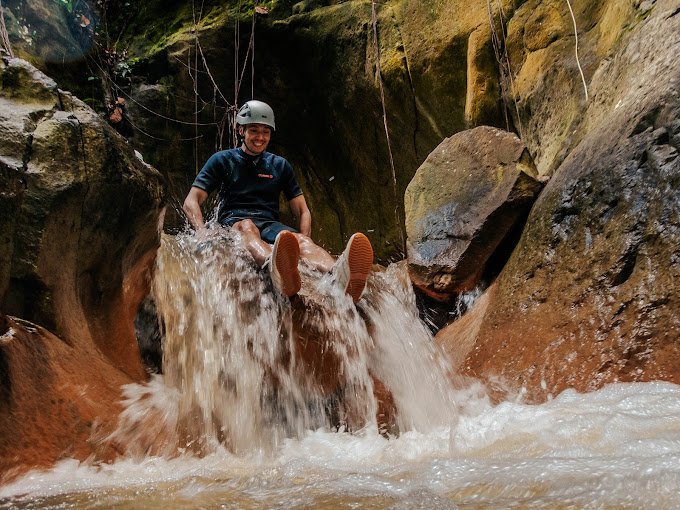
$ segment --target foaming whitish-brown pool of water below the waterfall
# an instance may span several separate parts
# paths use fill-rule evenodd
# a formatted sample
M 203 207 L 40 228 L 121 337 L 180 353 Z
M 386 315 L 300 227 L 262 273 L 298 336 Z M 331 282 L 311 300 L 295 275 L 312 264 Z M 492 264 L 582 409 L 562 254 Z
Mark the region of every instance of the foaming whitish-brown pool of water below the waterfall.
M 680 387 L 468 398 L 455 426 L 427 434 L 316 430 L 268 454 L 66 460 L 0 488 L 0 508 L 680 508 Z

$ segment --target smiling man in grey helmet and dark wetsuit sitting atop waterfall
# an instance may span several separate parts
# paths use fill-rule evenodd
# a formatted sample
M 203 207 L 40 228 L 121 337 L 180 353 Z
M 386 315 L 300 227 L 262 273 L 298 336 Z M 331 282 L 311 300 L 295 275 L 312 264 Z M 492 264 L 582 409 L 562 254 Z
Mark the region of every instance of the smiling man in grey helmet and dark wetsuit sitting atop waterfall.
M 238 148 L 213 154 L 199 172 L 184 200 L 184 212 L 193 227 L 205 228 L 201 205 L 219 189 L 217 220 L 241 233 L 255 261 L 269 266 L 272 282 L 291 297 L 301 286 L 298 262 L 306 259 L 320 271 L 332 271 L 354 302 L 361 298 L 373 263 L 368 238 L 354 234 L 337 262 L 310 238 L 312 216 L 284 158 L 267 152 L 276 129 L 274 111 L 262 101 L 248 101 L 236 115 Z M 284 193 L 297 228 L 279 221 L 279 195 Z M 273 246 L 272 246 L 273 244 Z

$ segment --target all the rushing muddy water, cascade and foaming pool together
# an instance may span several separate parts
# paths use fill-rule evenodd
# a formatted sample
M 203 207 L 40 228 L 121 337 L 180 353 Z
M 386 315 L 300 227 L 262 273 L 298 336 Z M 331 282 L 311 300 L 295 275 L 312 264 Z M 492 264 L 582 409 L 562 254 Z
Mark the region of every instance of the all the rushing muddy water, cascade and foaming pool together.
M 291 303 L 235 254 L 224 232 L 164 239 L 164 374 L 125 388 L 110 440 L 127 456 L 29 473 L 0 508 L 680 508 L 680 387 L 492 406 L 449 382 L 400 266 L 358 307 L 303 268 Z M 333 377 L 302 359 L 310 341 Z

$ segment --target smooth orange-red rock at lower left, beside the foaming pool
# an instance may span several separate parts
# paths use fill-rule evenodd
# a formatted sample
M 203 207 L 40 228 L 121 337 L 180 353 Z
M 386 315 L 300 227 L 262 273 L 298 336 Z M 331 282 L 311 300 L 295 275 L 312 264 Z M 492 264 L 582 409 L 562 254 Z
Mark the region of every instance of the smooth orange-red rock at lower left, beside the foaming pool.
M 63 458 L 113 458 L 100 440 L 129 382 L 95 349 L 0 314 L 0 482 Z

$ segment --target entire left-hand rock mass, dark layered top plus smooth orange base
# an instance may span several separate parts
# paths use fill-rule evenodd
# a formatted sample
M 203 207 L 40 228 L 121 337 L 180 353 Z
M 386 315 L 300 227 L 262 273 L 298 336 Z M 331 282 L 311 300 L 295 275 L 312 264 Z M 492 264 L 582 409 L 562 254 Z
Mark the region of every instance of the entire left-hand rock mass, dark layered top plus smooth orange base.
M 146 378 L 133 321 L 149 290 L 163 187 L 28 63 L 3 63 L 0 78 L 0 310 L 21 317 L 3 319 L 0 333 L 0 465 L 20 470 L 87 457 L 83 441 L 117 413 L 120 384 Z M 49 413 L 64 417 L 51 423 Z

